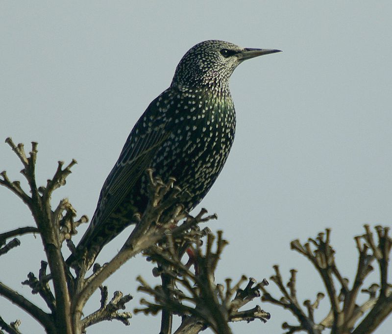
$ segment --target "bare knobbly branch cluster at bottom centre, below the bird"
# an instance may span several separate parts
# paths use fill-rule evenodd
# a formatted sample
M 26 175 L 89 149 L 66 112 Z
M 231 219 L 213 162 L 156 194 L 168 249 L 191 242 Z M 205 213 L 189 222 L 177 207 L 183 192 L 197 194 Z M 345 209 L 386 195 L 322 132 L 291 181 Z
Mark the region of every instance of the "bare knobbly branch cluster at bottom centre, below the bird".
M 183 321 L 175 333 L 187 333 L 191 324 L 196 327 L 190 333 L 198 333 L 207 326 L 210 326 L 215 333 L 231 333 L 227 326 L 228 321 L 249 322 L 259 319 L 265 322 L 270 318 L 270 314 L 259 307 L 238 311 L 246 303 L 260 296 L 259 289 L 267 284 L 266 281 L 256 284 L 254 279 L 249 279 L 245 289 L 242 290 L 240 285 L 246 280 L 244 276 L 234 287 L 231 287 L 231 280 L 226 280 L 225 292 L 223 285 L 214 283 L 214 271 L 224 245 L 227 243 L 222 238 L 221 231 L 218 233 L 215 252 L 212 234 L 207 235 L 204 253 L 200 246 L 196 247 L 194 259 L 196 274 L 181 262 L 180 257 L 176 256 L 181 240 L 174 240 L 173 236 L 168 235 L 168 240 L 170 238 L 172 241 L 168 241 L 166 246 L 162 244 L 160 247 L 150 247 L 146 254 L 151 260 L 161 264 L 162 274 L 172 277 L 176 284 L 172 285 L 172 289 L 167 287 L 168 293 L 162 286 L 150 287 L 139 277 L 138 281 L 141 286 L 138 290 L 153 296 L 155 303 L 143 299 L 141 304 L 145 308 L 137 308 L 135 312 L 156 314 L 158 311 L 170 310 L 173 314 L 181 315 Z M 188 293 L 183 292 L 184 289 Z M 185 301 L 186 304 L 183 303 Z

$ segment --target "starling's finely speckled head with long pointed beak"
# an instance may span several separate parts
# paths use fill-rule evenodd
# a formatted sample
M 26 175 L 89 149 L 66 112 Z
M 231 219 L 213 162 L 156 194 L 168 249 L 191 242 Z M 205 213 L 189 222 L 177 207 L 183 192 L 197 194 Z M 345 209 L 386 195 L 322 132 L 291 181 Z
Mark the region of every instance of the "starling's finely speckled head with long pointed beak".
M 182 57 L 175 70 L 172 86 L 228 89 L 229 78 L 240 63 L 274 52 L 280 50 L 248 49 L 224 41 L 204 41 Z

